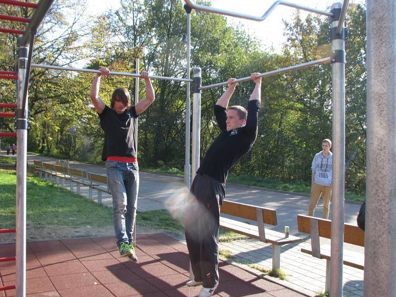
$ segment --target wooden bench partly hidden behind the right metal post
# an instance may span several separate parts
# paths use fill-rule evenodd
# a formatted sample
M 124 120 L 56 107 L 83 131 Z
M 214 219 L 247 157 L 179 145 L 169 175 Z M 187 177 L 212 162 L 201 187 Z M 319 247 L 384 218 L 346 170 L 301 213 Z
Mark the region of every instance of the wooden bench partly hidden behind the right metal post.
M 330 246 L 320 245 L 320 237 L 331 239 L 331 220 L 297 215 L 298 232 L 311 235 L 311 248 L 301 248 L 301 251 L 319 259 L 326 259 L 326 285 L 325 292 L 330 290 Z M 347 244 L 364 247 L 364 232 L 359 227 L 344 224 L 344 242 Z M 343 252 L 344 265 L 364 270 L 364 254 L 345 250 Z

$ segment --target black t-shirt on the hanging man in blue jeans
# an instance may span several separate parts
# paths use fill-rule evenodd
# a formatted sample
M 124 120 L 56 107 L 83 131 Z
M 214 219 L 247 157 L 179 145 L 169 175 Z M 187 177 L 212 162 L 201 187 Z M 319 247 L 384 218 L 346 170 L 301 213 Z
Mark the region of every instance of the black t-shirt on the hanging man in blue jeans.
M 105 105 L 99 118 L 104 130 L 102 160 L 105 161 L 109 156 L 136 158 L 135 127 L 138 115 L 135 106 L 118 114 Z

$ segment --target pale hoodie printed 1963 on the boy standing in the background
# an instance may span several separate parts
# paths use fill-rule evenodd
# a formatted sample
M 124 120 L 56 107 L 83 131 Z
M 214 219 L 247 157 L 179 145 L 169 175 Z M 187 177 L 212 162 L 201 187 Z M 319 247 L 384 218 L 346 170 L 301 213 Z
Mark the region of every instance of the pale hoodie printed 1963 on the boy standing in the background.
M 313 182 L 322 186 L 330 186 L 333 173 L 333 153 L 323 155 L 323 150 L 315 154 L 312 160 L 312 172 L 315 172 Z

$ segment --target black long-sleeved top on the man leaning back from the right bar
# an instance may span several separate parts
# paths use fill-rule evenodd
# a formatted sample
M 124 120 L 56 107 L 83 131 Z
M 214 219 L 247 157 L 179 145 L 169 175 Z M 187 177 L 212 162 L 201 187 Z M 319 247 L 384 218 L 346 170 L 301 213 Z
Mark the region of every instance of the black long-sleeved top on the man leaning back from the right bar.
M 253 146 L 257 138 L 257 113 L 260 101 L 249 100 L 247 104 L 247 120 L 244 127 L 227 131 L 227 110 L 215 105 L 214 114 L 221 134 L 207 150 L 197 173 L 207 174 L 218 182 L 225 184 L 228 171 Z

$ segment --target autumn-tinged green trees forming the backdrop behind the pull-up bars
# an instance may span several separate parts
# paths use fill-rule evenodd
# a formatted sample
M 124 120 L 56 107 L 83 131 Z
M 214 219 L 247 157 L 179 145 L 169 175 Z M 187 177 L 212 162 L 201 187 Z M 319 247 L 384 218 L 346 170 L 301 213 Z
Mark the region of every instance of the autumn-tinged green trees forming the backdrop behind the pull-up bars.
M 28 9 L 6 11 L 14 9 L 9 7 L 11 5 L 1 6 L 0 12 L 29 16 Z M 122 0 L 119 9 L 109 10 L 92 21 L 81 18 L 82 9 L 76 9 L 79 7 L 83 8 L 84 3 L 77 0 L 55 2 L 40 27 L 34 62 L 69 65 L 89 57 L 87 68 L 98 69 L 105 65 L 114 71 L 135 72 L 135 60 L 139 58 L 138 71 L 186 77 L 186 13 L 179 0 Z M 74 17 L 66 17 L 72 14 Z M 0 21 L 1 24 L 4 22 Z M 349 31 L 346 41 L 346 186 L 349 192 L 364 195 L 365 8 L 350 4 L 346 24 Z M 21 26 L 18 23 L 12 25 L 16 29 Z M 202 85 L 331 55 L 327 18 L 308 15 L 302 19 L 296 12 L 293 20 L 285 25 L 287 42 L 283 45 L 282 54 L 276 54 L 264 49 L 254 37 L 245 33 L 243 27 L 229 26 L 224 16 L 193 10 L 191 65 L 202 68 Z M 15 47 L 12 35 L 0 36 L 1 69 L 12 70 Z M 32 129 L 29 131 L 28 150 L 92 163 L 101 161 L 103 131 L 89 100 L 92 80 L 92 74 L 32 70 L 29 89 Z M 166 80 L 153 80 L 152 83 L 156 100 L 139 117 L 139 162 L 142 168 L 182 169 L 185 85 Z M 111 76 L 101 80 L 99 96 L 109 104 L 113 90 L 121 86 L 135 94 L 134 79 Z M 251 82 L 239 84 L 230 104 L 246 106 L 252 89 Z M 202 93 L 201 156 L 219 134 L 213 104 L 224 90 L 214 88 Z M 142 80 L 138 91 L 140 98 L 144 98 L 145 84 Z M 0 101 L 15 102 L 12 82 L 0 81 Z M 240 178 L 250 176 L 250 182 L 254 183 L 279 183 L 278 189 L 290 190 L 286 183 L 292 183 L 301 184 L 297 191 L 309 191 L 312 158 L 320 151 L 321 141 L 332 138 L 331 108 L 330 65 L 266 77 L 262 86 L 257 140 L 231 173 Z M 76 133 L 71 134 L 70 128 L 75 128 Z M 0 119 L 0 130 L 13 131 L 12 119 Z M 4 138 L 2 141 L 12 143 L 15 139 Z

